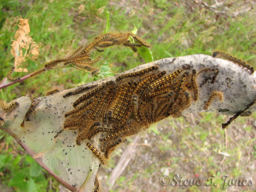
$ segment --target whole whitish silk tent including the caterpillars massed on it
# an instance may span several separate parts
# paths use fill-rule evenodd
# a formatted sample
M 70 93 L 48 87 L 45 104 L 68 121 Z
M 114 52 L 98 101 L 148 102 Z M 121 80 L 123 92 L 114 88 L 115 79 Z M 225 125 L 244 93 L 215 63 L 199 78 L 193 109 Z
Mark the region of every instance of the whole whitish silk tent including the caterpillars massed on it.
M 150 67 L 152 70 L 149 70 Z M 173 79 L 166 81 L 169 85 L 165 85 L 164 82 L 158 83 L 158 80 L 164 81 L 166 77 L 170 77 L 169 75 L 175 74 L 178 69 L 181 72 L 176 74 Z M 163 74 L 163 76 L 159 76 L 157 79 L 158 74 Z M 93 81 L 80 87 L 36 98 L 38 104 L 34 107 L 31 105 L 32 101 L 29 97 L 16 99 L 15 101 L 19 103 L 16 108 L 7 111 L 0 109 L 0 115 L 3 118 L 3 121 L 0 121 L 0 128 L 11 134 L 29 155 L 36 159 L 54 178 L 58 181 L 62 180 L 61 183 L 65 187 L 71 191 L 92 191 L 94 188 L 93 181 L 100 163 L 102 164 L 102 158 L 107 158 L 107 154 L 111 153 L 117 144 L 125 142 L 127 136 L 136 134 L 131 132 L 135 125 L 138 132 L 154 123 L 152 113 L 155 109 L 159 110 L 155 111 L 157 114 L 155 122 L 166 118 L 168 113 L 174 118 L 179 117 L 182 113 L 195 112 L 235 115 L 244 112 L 244 109 L 248 107 L 249 109 L 245 112 L 250 114 L 256 111 L 254 104 L 256 99 L 255 77 L 256 72 L 252 73 L 246 66 L 208 55 L 197 54 L 165 58 L 141 65 L 111 78 Z M 136 81 L 143 82 L 144 80 L 150 83 L 134 84 Z M 109 82 L 109 87 L 106 82 Z M 174 86 L 171 86 L 171 83 Z M 135 89 L 131 88 L 132 85 L 141 86 L 144 89 L 141 97 L 139 93 L 133 92 Z M 153 86 L 155 88 L 148 91 Z M 166 88 L 163 88 L 164 86 Z M 112 98 L 107 97 L 108 90 L 110 95 L 111 92 L 114 93 Z M 123 124 L 123 121 L 116 123 L 117 119 L 112 121 L 111 109 L 107 108 L 108 123 L 101 122 L 104 115 L 101 110 L 106 106 L 101 101 L 109 101 L 110 103 L 118 101 L 117 103 L 121 105 L 125 99 L 120 99 L 121 96 L 119 98 L 118 94 L 128 97 L 127 108 L 132 108 L 130 113 L 128 113 L 129 109 L 125 109 L 125 115 L 128 115 L 127 121 Z M 81 104 L 78 102 L 81 101 L 79 98 L 85 98 L 83 102 L 88 101 L 91 104 L 87 108 L 81 108 Z M 133 98 L 137 98 L 138 113 L 135 113 L 134 103 L 136 102 Z M 160 101 L 164 101 L 164 103 Z M 78 105 L 77 107 L 74 105 L 75 103 Z M 78 117 L 72 115 L 72 117 L 68 115 L 65 117 L 65 114 L 75 110 L 73 106 L 77 109 L 76 115 Z M 30 116 L 27 114 L 29 110 L 32 110 Z M 121 111 L 117 111 L 117 116 L 121 114 Z M 148 113 L 151 114 L 148 115 Z M 24 127 L 21 127 L 25 116 L 29 116 L 27 119 L 30 121 L 25 121 Z M 93 125 L 97 123 L 96 117 L 99 118 L 97 121 L 100 121 L 98 123 L 100 127 L 112 129 L 113 135 L 119 136 L 117 140 L 110 136 L 115 142 L 114 144 L 111 143 L 112 140 L 106 139 L 106 150 L 101 149 L 104 142 L 99 138 L 104 138 L 110 134 L 109 132 L 95 133 L 90 140 L 85 136 L 97 130 L 97 126 Z M 139 123 L 139 121 L 143 121 L 142 118 L 145 118 L 146 123 Z M 80 124 L 83 127 L 76 128 L 76 124 L 74 124 L 74 126 L 63 128 L 68 122 Z M 118 128 L 119 124 L 123 127 Z M 125 128 L 129 128 L 129 131 Z M 86 134 L 83 135 L 83 132 Z M 93 155 L 86 145 L 87 142 L 91 142 L 99 149 L 104 157 L 97 158 L 100 157 L 99 154 Z

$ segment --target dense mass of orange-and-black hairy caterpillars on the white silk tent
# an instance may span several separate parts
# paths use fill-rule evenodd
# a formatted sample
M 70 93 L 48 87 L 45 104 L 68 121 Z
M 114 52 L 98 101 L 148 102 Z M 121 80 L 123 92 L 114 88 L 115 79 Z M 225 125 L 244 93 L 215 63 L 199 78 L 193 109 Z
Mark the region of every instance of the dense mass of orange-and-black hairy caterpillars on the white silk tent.
M 59 133 L 76 130 L 77 145 L 90 141 L 96 134 L 105 133 L 100 139 L 100 149 L 87 143 L 101 164 L 105 164 L 105 158 L 109 158 L 117 145 L 125 143 L 126 137 L 146 130 L 150 124 L 168 116 L 180 117 L 191 101 L 198 99 L 198 75 L 208 73 L 208 80 L 214 83 L 219 72 L 210 68 L 197 72 L 192 68 L 184 65 L 167 75 L 166 71 L 153 66 L 107 81 L 73 103 L 76 109 L 65 114 L 67 119 Z M 215 97 L 221 100 L 222 93 L 213 91 L 205 103 L 205 110 Z

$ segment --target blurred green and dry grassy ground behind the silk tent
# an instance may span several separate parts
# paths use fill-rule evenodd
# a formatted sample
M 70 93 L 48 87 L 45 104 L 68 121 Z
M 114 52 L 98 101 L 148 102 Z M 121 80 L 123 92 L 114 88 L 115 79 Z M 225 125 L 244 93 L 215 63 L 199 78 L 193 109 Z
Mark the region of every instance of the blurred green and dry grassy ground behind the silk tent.
M 226 5 L 228 3 L 223 6 Z M 242 9 L 243 1 L 230 2 L 228 7 L 230 10 L 238 9 L 237 7 Z M 256 67 L 255 17 L 251 12 L 233 17 L 229 11 L 217 14 L 200 8 L 192 1 L 181 0 L 136 0 L 128 5 L 122 1 L 108 0 L 44 0 L 39 3 L 0 0 L 0 8 L 1 79 L 5 78 L 14 65 L 10 45 L 18 28 L 19 16 L 29 20 L 30 35 L 40 46 L 39 57 L 24 62 L 24 67 L 32 72 L 50 60 L 71 54 L 79 46 L 91 42 L 103 33 L 106 11 L 110 13 L 110 32 L 131 31 L 135 25 L 138 28 L 137 35 L 152 45 L 155 60 L 197 53 L 211 55 L 214 50 L 221 50 Z M 109 62 L 111 70 L 116 73 L 144 63 L 144 59 L 137 53 L 121 46 L 106 48 L 102 58 Z M 95 77 L 77 69 L 57 69 L 1 90 L 0 98 L 11 101 L 28 93 L 39 97 L 55 85 L 69 89 L 92 80 Z M 165 167 L 169 170 L 169 175 L 183 174 L 189 177 L 190 174 L 189 178 L 191 175 L 195 178 L 194 175 L 199 174 L 204 179 L 211 174 L 217 175 L 218 184 L 222 184 L 220 177 L 226 173 L 230 178 L 255 179 L 255 175 L 246 175 L 253 173 L 253 168 L 247 167 L 245 163 L 253 165 L 255 162 L 255 126 L 252 125 L 255 115 L 239 118 L 228 131 L 220 129 L 220 124 L 228 117 L 216 114 L 196 114 L 192 117 L 185 115 L 175 120 L 164 120 L 148 134 L 141 136 L 142 141 L 148 139 L 154 147 L 141 147 L 138 153 L 150 155 L 152 161 L 145 163 L 137 155 L 134 159 L 136 166 L 133 167 L 132 164 L 127 167 L 128 170 L 118 179 L 112 191 L 222 191 L 220 187 L 213 186 L 160 186 L 159 177 Z M 225 141 L 228 146 L 225 146 Z M 59 184 L 3 131 L 0 131 L 0 142 L 0 180 L 4 188 L 9 187 L 9 191 L 59 191 Z M 219 152 L 231 154 L 221 165 L 223 155 L 219 155 Z M 114 161 L 110 162 L 109 169 L 114 167 Z M 18 182 L 15 184 L 12 182 L 14 180 Z M 149 186 L 147 182 L 152 184 Z M 232 187 L 234 186 L 229 189 L 233 189 Z M 248 186 L 240 189 L 251 191 Z

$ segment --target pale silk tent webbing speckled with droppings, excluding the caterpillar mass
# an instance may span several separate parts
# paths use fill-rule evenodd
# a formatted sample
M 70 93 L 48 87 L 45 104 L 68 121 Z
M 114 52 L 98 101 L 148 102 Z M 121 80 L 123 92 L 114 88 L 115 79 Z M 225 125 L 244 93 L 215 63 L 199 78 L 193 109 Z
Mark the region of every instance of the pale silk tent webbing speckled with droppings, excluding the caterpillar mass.
M 139 75 L 136 73 L 150 67 L 155 67 L 155 70 L 145 72 L 144 75 L 142 75 L 142 72 L 140 72 Z M 65 187 L 72 191 L 92 191 L 94 188 L 94 178 L 101 161 L 92 154 L 91 150 L 86 146 L 86 143 L 91 142 L 96 148 L 100 149 L 100 144 L 102 143 L 99 138 L 102 138 L 102 134 L 97 134 L 90 140 L 81 140 L 81 145 L 77 145 L 76 138 L 79 130 L 72 130 L 72 128 L 70 128 L 60 133 L 60 131 L 63 130 L 64 122 L 67 121 L 65 114 L 74 110 L 73 104 L 75 101 L 86 93 L 91 93 L 92 90 L 98 89 L 97 97 L 103 98 L 106 94 L 106 90 L 103 88 L 100 90 L 100 87 L 106 82 L 112 81 L 115 83 L 116 89 L 120 90 L 123 84 L 125 85 L 125 83 L 131 80 L 133 82 L 141 82 L 147 79 L 147 77 L 150 77 L 150 75 L 154 77 L 156 74 L 163 71 L 166 71 L 163 77 L 167 77 L 178 69 L 181 69 L 182 72 L 177 75 L 176 79 L 173 79 L 178 82 L 176 86 L 172 88 L 175 94 L 169 91 L 169 93 L 165 95 L 160 94 L 160 96 L 164 98 L 171 97 L 171 94 L 176 95 L 176 97 L 171 97 L 173 99 L 171 99 L 170 102 L 177 101 L 179 104 L 177 104 L 177 106 L 181 107 L 184 107 L 184 103 L 182 103 L 183 100 L 179 100 L 179 98 L 184 98 L 185 96 L 188 98 L 188 96 L 190 96 L 190 100 L 186 100 L 187 103 L 185 103 L 187 108 L 184 107 L 184 110 L 180 111 L 181 113 L 215 112 L 219 114 L 235 115 L 248 107 L 248 105 L 256 99 L 256 72 L 251 74 L 248 68 L 231 61 L 197 54 L 161 59 L 125 71 L 111 78 L 93 81 L 80 87 L 65 90 L 47 97 L 37 98 L 40 101 L 30 114 L 30 121 L 25 121 L 24 127 L 21 127 L 20 124 L 23 122 L 27 110 L 31 107 L 32 101 L 28 97 L 21 97 L 15 100 L 19 103 L 16 108 L 12 108 L 8 111 L 0 109 L 0 114 L 3 118 L 3 121 L 0 121 L 0 128 L 11 134 L 19 144 L 24 147 L 29 155 L 36 159 L 37 162 L 58 181 L 62 180 L 62 184 L 64 184 Z M 198 93 L 197 100 L 195 100 L 195 89 L 191 89 L 189 85 L 185 84 L 189 82 L 193 85 L 192 78 L 187 80 L 186 75 L 190 77 L 195 71 L 195 82 L 197 84 Z M 126 77 L 124 74 L 131 74 L 131 77 Z M 153 82 L 157 81 L 153 80 Z M 187 87 L 185 88 L 185 86 Z M 194 85 L 192 87 L 194 87 Z M 145 89 L 147 88 L 145 87 Z M 163 90 L 163 88 L 161 90 Z M 186 94 L 184 90 L 188 93 Z M 150 92 L 147 94 L 149 93 Z M 179 93 L 182 93 L 182 95 L 179 95 Z M 213 93 L 218 94 L 213 95 Z M 68 96 L 64 98 L 64 95 Z M 160 96 L 158 95 L 157 98 L 161 98 Z M 210 100 L 209 98 L 211 97 L 212 99 Z M 154 100 L 155 96 L 152 96 L 152 98 Z M 111 100 L 110 98 L 107 98 L 107 100 L 108 99 Z M 128 102 L 132 102 L 132 99 Z M 139 102 L 141 101 L 138 101 L 138 103 Z M 208 102 L 209 107 L 206 108 Z M 157 101 L 154 100 L 153 103 L 157 103 Z M 174 102 L 173 105 L 175 104 Z M 167 103 L 167 106 L 168 105 Z M 92 106 L 96 105 L 94 104 Z M 78 108 L 79 106 L 76 107 L 76 109 Z M 179 108 L 176 110 L 179 110 Z M 255 112 L 255 104 L 247 111 Z M 91 110 L 89 112 L 91 112 Z M 171 113 L 174 117 L 178 117 L 175 116 L 176 114 L 177 113 Z M 133 122 L 134 119 L 135 115 L 130 116 L 129 123 Z M 86 128 L 88 127 L 84 129 Z M 112 124 L 109 128 L 113 128 Z M 108 134 L 109 133 L 104 132 L 103 136 Z M 123 137 L 122 139 L 124 140 Z

